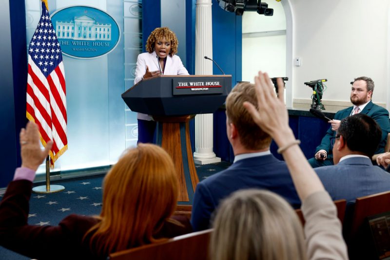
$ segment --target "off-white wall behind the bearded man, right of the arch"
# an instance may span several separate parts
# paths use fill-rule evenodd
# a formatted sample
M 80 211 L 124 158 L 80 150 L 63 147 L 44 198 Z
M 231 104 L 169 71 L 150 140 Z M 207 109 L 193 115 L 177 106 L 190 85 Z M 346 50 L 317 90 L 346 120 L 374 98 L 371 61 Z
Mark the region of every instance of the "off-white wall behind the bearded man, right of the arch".
M 350 82 L 367 75 L 375 82 L 374 103 L 386 106 L 390 1 L 288 1 L 293 33 L 292 45 L 287 48 L 292 58 L 302 59 L 302 66 L 292 65 L 293 103 L 310 101 L 312 91 L 304 82 L 327 78 L 324 104 L 331 100 L 343 107 L 349 103 Z

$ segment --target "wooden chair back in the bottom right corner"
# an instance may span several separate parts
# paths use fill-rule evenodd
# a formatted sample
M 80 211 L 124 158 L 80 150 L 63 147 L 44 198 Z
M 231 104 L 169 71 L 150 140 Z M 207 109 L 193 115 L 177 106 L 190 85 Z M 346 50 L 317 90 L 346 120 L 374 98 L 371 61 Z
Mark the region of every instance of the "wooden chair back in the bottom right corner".
M 350 259 L 378 259 L 366 219 L 390 211 L 390 191 L 357 198 L 352 209 L 344 232 Z

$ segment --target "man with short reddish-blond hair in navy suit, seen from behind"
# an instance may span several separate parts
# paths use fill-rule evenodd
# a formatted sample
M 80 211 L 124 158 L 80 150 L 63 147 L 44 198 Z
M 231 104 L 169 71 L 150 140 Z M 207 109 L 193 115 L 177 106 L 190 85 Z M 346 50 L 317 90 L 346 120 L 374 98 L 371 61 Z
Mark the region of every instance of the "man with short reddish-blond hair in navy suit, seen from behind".
M 234 163 L 196 186 L 191 218 L 195 230 L 209 228 L 220 201 L 239 189 L 267 189 L 293 206 L 300 204 L 285 162 L 271 154 L 271 136 L 254 123 L 243 106 L 245 101 L 257 104 L 254 84 L 239 83 L 226 98 L 226 131 Z

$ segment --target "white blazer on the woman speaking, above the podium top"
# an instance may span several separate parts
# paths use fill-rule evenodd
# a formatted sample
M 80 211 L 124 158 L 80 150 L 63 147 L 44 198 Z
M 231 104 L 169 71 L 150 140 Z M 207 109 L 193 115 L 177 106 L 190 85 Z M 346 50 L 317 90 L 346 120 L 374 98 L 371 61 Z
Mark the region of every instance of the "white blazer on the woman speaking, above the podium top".
M 146 73 L 146 65 L 149 67 L 149 71 L 159 71 L 158 59 L 156 52 L 153 53 L 141 53 L 137 58 L 136 78 L 134 84 L 140 81 Z M 162 68 L 161 68 L 162 69 Z M 167 56 L 167 62 L 165 63 L 164 75 L 188 75 L 188 71 L 184 68 L 183 63 L 179 56 Z

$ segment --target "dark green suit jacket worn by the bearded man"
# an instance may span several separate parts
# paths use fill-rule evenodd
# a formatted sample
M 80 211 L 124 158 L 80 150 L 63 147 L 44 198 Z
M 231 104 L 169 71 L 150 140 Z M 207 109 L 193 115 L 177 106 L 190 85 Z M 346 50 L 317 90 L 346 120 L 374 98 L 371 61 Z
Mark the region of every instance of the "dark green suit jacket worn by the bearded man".
M 342 120 L 342 119 L 346 118 L 347 116 L 350 116 L 352 109 L 353 109 L 353 106 L 338 111 L 334 115 L 334 119 Z M 387 111 L 386 109 L 384 109 L 378 105 L 375 105 L 374 103 L 372 103 L 372 101 L 370 101 L 366 105 L 366 107 L 364 107 L 364 109 L 361 111 L 361 113 L 367 114 L 370 117 L 372 117 L 372 119 L 374 119 L 376 121 L 376 123 L 378 123 L 379 126 L 381 127 L 382 139 L 381 139 L 381 142 L 379 143 L 378 149 L 375 151 L 375 153 L 384 152 L 385 146 L 386 146 L 386 141 L 387 141 L 387 135 L 390 132 L 389 111 Z M 326 132 L 324 138 L 322 138 L 321 144 L 319 146 L 317 146 L 317 148 L 315 149 L 315 152 L 323 149 L 323 150 L 326 150 L 328 152 L 329 159 L 333 158 L 332 149 L 331 149 L 331 137 L 333 137 L 335 135 L 336 135 L 336 132 L 333 131 L 332 128 L 330 127 L 329 130 Z

